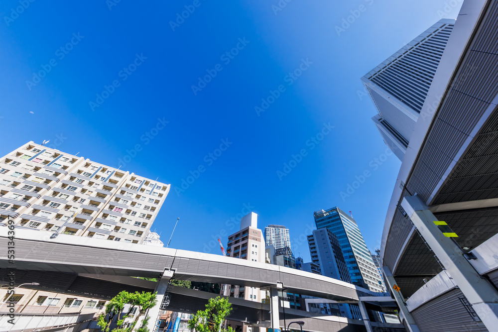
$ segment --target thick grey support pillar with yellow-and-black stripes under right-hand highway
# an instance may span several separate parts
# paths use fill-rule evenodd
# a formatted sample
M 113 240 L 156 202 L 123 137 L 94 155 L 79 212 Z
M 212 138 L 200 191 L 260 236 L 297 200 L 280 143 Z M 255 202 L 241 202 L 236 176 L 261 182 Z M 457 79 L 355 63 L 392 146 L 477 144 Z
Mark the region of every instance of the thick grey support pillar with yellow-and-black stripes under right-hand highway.
M 495 331 L 498 327 L 498 292 L 495 287 L 474 269 L 463 256 L 460 246 L 443 234 L 434 223 L 438 220 L 418 196 L 403 198 L 401 206 L 486 328 Z

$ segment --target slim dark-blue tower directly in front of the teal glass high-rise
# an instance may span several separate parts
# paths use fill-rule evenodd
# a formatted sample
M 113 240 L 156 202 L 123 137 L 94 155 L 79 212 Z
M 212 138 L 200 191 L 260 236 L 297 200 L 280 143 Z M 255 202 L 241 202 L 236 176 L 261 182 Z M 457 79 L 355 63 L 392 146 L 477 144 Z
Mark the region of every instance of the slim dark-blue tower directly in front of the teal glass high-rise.
M 351 276 L 337 236 L 327 228 L 313 230 L 308 235 L 311 261 L 320 265 L 322 275 L 351 283 Z

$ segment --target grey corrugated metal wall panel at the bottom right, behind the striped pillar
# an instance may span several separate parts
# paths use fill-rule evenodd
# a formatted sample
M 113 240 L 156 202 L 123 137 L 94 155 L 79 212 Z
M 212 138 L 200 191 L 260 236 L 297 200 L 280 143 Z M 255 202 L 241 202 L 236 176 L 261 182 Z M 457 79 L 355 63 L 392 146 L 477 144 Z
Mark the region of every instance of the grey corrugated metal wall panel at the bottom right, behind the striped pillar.
M 420 332 L 487 332 L 484 324 L 475 322 L 458 299 L 463 296 L 459 289 L 453 289 L 412 311 Z

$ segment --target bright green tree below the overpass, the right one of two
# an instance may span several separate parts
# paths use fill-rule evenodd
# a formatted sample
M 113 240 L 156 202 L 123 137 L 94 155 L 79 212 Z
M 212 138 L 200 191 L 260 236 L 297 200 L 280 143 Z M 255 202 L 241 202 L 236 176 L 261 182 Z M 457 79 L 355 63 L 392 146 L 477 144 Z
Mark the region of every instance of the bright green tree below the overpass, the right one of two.
M 206 305 L 206 310 L 199 310 L 190 321 L 188 321 L 188 328 L 190 331 L 197 332 L 233 332 L 234 330 L 229 327 L 227 330 L 220 329 L 225 318 L 230 315 L 232 311 L 232 304 L 226 298 L 217 296 L 216 298 L 209 299 Z

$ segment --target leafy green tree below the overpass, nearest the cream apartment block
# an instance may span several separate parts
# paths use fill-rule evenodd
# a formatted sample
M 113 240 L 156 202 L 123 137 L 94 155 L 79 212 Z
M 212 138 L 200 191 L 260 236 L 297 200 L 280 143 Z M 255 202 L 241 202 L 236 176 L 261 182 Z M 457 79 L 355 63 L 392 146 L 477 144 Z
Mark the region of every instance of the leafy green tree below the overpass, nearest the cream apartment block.
M 106 311 L 99 316 L 97 325 L 102 329 L 103 332 L 110 332 L 110 327 L 113 319 L 115 317 L 118 317 L 118 327 L 116 329 L 113 329 L 111 332 L 133 332 L 135 331 L 134 329 L 138 323 L 138 319 L 140 318 L 140 316 L 142 316 L 145 311 L 156 305 L 156 296 L 156 293 L 152 294 L 150 292 L 128 293 L 126 291 L 122 291 L 106 305 Z M 126 304 L 130 305 L 129 309 L 127 313 L 121 319 L 119 319 Z M 128 328 L 124 328 L 124 320 L 128 317 L 133 308 L 136 308 L 137 310 L 135 319 Z M 109 318 L 106 319 L 108 315 Z M 138 328 L 135 332 L 148 332 L 148 329 L 146 327 L 148 320 L 149 316 L 147 315 L 142 320 L 140 328 Z

